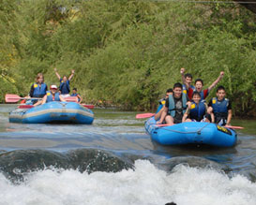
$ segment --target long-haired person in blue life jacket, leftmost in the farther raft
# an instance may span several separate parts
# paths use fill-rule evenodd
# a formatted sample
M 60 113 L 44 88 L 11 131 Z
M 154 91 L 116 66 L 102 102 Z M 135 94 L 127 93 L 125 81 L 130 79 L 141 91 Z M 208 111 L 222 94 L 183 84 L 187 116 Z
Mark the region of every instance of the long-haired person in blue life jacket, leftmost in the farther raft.
M 47 85 L 44 83 L 43 74 L 38 73 L 36 82 L 31 85 L 28 97 L 43 97 L 44 95 L 46 95 L 47 90 L 48 88 Z M 32 99 L 31 102 L 35 104 L 38 102 L 38 99 Z

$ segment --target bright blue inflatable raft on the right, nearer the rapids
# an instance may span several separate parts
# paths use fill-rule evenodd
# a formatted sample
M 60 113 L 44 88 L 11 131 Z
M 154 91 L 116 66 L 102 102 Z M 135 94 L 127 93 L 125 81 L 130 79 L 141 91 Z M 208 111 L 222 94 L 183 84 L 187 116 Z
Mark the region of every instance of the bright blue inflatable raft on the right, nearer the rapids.
M 236 143 L 236 132 L 233 129 L 211 123 L 189 122 L 158 126 L 154 117 L 145 124 L 146 132 L 162 145 L 211 145 L 216 147 L 233 147 Z

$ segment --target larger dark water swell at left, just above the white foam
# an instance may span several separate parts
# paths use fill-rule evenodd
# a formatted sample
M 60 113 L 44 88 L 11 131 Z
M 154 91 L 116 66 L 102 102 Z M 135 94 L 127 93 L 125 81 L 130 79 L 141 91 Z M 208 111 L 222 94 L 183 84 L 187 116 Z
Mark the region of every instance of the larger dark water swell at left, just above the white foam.
M 133 162 L 103 150 L 77 149 L 67 153 L 17 150 L 0 154 L 1 172 L 13 183 L 23 182 L 26 173 L 47 168 L 77 169 L 80 172 L 117 172 L 133 168 Z

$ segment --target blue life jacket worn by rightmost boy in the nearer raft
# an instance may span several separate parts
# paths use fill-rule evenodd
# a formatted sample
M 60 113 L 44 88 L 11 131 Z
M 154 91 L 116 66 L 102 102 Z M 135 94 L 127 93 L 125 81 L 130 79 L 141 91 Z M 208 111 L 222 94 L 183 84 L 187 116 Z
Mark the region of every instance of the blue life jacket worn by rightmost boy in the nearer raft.
M 229 106 L 229 99 L 224 98 L 221 101 L 218 101 L 217 97 L 212 98 L 212 107 L 214 115 L 217 118 L 224 118 L 227 119 L 228 117 L 228 106 Z

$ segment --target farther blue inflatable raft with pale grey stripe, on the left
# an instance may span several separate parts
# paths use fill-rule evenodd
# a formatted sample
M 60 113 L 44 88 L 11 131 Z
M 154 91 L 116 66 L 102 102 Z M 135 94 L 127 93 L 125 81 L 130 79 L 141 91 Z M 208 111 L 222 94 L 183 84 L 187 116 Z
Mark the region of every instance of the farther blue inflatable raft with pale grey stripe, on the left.
M 92 124 L 94 113 L 75 102 L 49 102 L 31 109 L 9 113 L 10 123 L 23 124 Z

